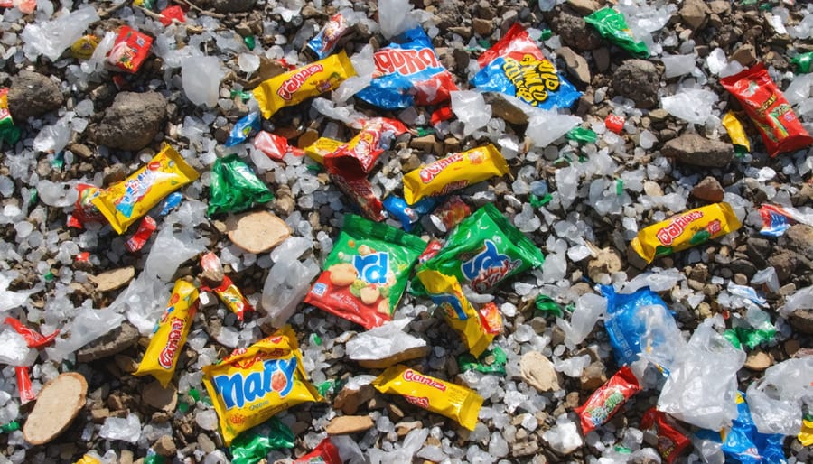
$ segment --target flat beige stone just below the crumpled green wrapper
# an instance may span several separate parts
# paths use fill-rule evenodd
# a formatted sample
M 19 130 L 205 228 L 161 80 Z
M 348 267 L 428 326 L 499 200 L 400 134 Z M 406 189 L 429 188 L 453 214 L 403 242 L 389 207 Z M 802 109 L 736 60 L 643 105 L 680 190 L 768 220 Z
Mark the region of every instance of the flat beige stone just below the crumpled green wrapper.
M 234 245 L 255 255 L 265 253 L 291 237 L 291 228 L 285 221 L 268 211 L 229 216 L 226 227 Z

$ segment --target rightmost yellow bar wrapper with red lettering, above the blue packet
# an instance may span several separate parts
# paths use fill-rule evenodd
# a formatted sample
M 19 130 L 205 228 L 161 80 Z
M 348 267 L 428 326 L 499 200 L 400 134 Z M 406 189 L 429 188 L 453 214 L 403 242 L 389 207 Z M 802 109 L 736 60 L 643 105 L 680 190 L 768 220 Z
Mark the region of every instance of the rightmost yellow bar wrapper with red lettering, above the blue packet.
M 722 237 L 741 226 L 731 205 L 713 203 L 641 229 L 630 246 L 649 264 L 659 256 L 671 255 L 706 240 Z

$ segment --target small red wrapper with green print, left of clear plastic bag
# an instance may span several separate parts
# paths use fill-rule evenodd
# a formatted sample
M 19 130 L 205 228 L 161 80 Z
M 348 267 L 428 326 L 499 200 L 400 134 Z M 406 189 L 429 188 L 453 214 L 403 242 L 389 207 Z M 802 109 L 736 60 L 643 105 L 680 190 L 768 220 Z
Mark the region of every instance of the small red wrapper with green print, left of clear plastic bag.
M 579 414 L 582 422 L 582 432 L 586 435 L 587 432 L 609 421 L 612 415 L 638 392 L 640 385 L 631 368 L 621 367 L 610 380 L 594 391 L 584 404 L 575 408 L 574 411 Z

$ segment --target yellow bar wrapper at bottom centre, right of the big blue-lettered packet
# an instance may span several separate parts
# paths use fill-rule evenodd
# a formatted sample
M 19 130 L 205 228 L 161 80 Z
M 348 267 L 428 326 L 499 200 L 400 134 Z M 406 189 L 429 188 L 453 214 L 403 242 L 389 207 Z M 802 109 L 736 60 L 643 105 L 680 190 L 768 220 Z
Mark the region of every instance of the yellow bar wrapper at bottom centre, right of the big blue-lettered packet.
M 388 367 L 372 381 L 382 394 L 400 394 L 411 404 L 442 414 L 470 431 L 477 425 L 482 397 L 471 388 L 425 376 L 409 367 Z

